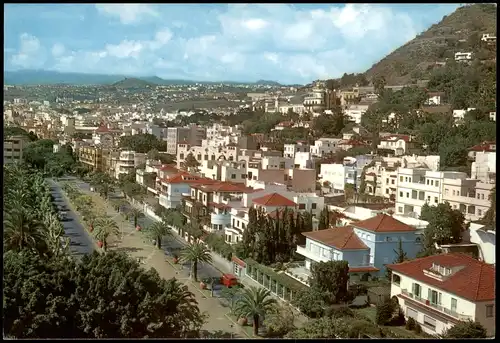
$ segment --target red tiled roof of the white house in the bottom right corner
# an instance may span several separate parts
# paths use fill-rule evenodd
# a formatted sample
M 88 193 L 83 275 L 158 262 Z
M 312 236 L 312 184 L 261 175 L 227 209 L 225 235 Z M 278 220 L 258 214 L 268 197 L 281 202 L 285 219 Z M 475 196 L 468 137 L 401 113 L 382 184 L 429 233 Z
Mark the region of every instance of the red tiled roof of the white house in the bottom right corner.
M 424 275 L 433 264 L 463 267 L 443 281 Z M 495 267 L 461 253 L 442 254 L 387 265 L 397 273 L 471 301 L 495 300 Z

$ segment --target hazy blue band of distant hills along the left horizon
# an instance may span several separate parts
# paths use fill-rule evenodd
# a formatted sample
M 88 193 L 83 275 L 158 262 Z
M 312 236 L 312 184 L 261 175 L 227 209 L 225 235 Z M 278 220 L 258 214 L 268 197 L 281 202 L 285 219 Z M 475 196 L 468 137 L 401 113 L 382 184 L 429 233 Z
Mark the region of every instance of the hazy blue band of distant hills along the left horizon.
M 150 86 L 162 85 L 193 85 L 196 83 L 203 84 L 253 84 L 253 85 L 271 85 L 279 86 L 275 81 L 260 80 L 253 82 L 236 82 L 236 81 L 193 81 L 179 79 L 162 79 L 158 76 L 132 77 L 127 75 L 101 75 L 101 74 L 83 74 L 83 73 L 61 73 L 50 70 L 17 70 L 4 72 L 4 84 L 7 85 L 52 85 L 52 84 L 71 84 L 71 85 L 110 85 L 123 88 L 139 88 L 149 84 Z

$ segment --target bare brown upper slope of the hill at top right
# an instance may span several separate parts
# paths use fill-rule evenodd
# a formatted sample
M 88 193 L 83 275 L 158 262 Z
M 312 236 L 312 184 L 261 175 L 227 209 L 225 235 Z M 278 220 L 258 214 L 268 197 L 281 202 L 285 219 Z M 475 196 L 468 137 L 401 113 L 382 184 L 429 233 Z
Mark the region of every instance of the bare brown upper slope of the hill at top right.
M 441 22 L 398 48 L 366 71 L 372 80 L 384 76 L 388 85 L 408 84 L 426 79 L 436 62 L 453 59 L 455 52 L 474 52 L 476 56 L 496 56 L 495 48 L 481 46 L 483 33 L 496 35 L 495 4 L 474 4 L 458 8 Z M 480 58 L 483 59 L 483 58 Z

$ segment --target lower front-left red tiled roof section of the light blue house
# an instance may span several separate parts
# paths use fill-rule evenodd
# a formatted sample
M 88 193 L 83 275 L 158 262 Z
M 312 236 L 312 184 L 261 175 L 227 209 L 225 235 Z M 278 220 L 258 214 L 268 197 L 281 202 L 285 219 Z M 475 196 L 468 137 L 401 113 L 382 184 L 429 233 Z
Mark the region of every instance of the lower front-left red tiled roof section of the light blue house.
M 302 234 L 307 238 L 338 250 L 368 249 L 365 243 L 354 233 L 352 226 L 339 226 L 333 229 L 303 232 Z

